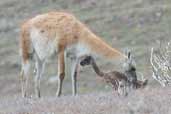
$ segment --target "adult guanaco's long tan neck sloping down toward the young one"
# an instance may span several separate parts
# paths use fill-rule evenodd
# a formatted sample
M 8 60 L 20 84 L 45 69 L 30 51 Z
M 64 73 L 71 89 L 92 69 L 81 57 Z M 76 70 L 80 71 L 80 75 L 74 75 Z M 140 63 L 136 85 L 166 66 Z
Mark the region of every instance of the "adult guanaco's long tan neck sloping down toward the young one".
M 108 59 L 115 59 L 116 57 L 127 58 L 124 54 L 104 42 L 102 38 L 92 33 L 88 28 L 82 27 L 82 29 L 80 33 L 81 40 L 90 48 L 91 53 L 101 55 Z

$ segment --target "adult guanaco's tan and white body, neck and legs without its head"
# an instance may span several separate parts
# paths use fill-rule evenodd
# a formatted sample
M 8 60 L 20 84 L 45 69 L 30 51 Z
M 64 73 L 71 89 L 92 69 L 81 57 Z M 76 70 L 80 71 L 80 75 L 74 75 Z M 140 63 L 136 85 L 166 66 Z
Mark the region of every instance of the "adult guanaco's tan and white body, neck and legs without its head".
M 30 61 L 35 60 L 35 92 L 40 97 L 40 79 L 46 60 L 56 53 L 58 64 L 57 96 L 62 93 L 65 77 L 65 53 L 71 53 L 72 93 L 76 94 L 74 70 L 76 61 L 84 54 L 100 55 L 108 59 L 126 58 L 117 49 L 105 43 L 75 16 L 66 12 L 49 12 L 29 19 L 21 26 L 20 54 L 22 58 L 22 96 L 26 97 Z

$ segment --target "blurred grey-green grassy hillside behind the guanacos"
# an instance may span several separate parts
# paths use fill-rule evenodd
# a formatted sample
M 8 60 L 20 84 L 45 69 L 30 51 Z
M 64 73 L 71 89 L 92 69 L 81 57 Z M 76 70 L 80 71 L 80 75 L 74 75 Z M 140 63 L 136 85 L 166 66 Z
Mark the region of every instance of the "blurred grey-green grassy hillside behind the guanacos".
M 150 49 L 159 42 L 165 45 L 171 39 L 170 0 L 1 0 L 0 1 L 0 98 L 20 95 L 20 25 L 37 14 L 49 11 L 67 11 L 74 14 L 108 44 L 134 54 L 137 70 L 150 80 L 150 86 L 159 84 L 151 77 Z M 67 60 L 70 63 L 69 60 Z M 101 69 L 119 69 L 121 64 L 97 59 Z M 63 93 L 71 95 L 70 65 L 64 80 Z M 55 96 L 57 82 L 56 58 L 46 65 L 41 81 L 42 96 Z M 34 94 L 34 75 L 30 76 L 30 95 Z M 90 67 L 82 68 L 78 76 L 80 94 L 110 91 Z M 154 86 L 157 87 L 157 86 Z

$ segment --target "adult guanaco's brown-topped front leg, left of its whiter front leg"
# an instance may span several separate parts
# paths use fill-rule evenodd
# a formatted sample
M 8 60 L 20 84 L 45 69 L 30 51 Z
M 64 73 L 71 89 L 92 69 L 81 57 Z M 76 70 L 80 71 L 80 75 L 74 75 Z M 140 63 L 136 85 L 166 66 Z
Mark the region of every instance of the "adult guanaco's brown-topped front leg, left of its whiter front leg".
M 58 54 L 58 89 L 56 96 L 60 96 L 62 93 L 62 83 L 65 77 L 65 60 L 64 60 L 64 50 L 60 51 Z

